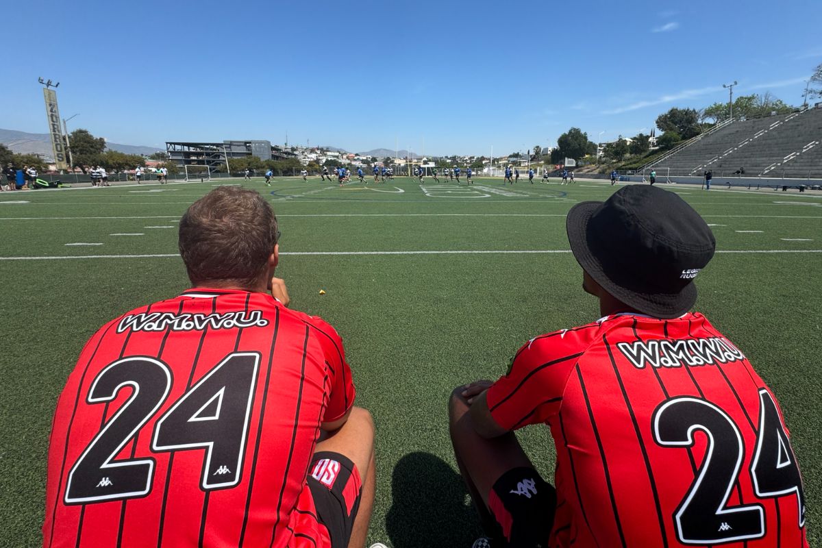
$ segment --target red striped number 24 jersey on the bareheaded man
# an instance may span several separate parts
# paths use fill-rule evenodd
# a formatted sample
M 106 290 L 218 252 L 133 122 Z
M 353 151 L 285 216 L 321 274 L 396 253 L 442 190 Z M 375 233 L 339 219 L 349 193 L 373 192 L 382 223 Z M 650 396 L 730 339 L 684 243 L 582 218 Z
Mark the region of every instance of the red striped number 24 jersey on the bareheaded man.
M 60 395 L 44 546 L 330 546 L 307 487 L 354 399 L 336 331 L 197 288 L 112 320 Z

